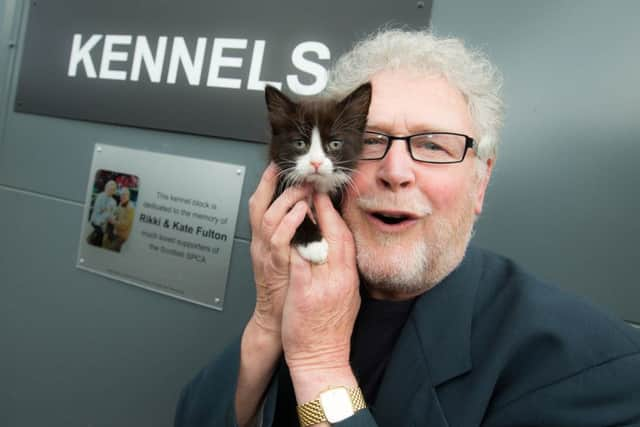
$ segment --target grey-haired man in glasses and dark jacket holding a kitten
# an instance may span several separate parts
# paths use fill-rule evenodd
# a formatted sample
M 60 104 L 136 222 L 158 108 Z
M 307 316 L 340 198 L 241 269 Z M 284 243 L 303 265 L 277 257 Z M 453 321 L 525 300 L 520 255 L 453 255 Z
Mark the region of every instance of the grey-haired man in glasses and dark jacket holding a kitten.
M 307 192 L 270 205 L 269 167 L 250 201 L 255 311 L 185 388 L 176 426 L 640 423 L 640 334 L 468 248 L 501 121 L 491 64 L 392 30 L 343 56 L 329 93 L 367 80 L 376 148 L 342 216 L 314 195 L 328 262 L 290 249 Z M 421 151 L 430 138 L 438 152 Z

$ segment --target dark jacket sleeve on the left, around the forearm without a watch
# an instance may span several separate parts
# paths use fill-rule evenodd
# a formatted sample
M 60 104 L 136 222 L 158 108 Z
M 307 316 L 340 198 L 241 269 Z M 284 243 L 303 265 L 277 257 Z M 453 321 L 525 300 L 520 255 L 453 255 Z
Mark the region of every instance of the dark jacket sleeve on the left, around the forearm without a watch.
M 235 393 L 240 369 L 240 338 L 187 384 L 178 400 L 175 427 L 236 427 Z M 258 419 L 271 425 L 277 375 L 268 386 Z

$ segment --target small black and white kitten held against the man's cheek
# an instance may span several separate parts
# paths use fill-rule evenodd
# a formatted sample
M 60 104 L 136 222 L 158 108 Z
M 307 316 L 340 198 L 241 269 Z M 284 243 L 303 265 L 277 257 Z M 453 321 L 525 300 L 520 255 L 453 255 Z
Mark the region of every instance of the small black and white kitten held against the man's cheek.
M 329 193 L 339 209 L 362 152 L 362 135 L 371 103 L 371 84 L 365 83 L 342 100 L 294 102 L 274 87 L 265 89 L 271 145 L 269 157 L 280 168 L 274 200 L 292 185 L 313 183 Z M 300 255 L 316 264 L 326 262 L 327 241 L 307 216 L 292 240 Z

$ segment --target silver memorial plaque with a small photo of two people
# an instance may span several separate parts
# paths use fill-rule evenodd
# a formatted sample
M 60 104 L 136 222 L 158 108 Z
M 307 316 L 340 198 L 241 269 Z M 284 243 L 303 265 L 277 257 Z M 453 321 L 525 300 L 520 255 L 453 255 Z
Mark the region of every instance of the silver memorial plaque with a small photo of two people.
M 244 166 L 96 145 L 78 264 L 222 310 Z

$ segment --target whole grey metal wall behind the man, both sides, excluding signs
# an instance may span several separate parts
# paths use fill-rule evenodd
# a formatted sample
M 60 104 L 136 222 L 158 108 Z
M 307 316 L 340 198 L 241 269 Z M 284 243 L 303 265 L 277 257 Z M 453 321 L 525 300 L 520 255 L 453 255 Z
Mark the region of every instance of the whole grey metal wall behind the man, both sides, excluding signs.
M 251 312 L 246 202 L 264 147 L 14 113 L 27 6 L 0 0 L 0 425 L 169 426 L 180 387 Z M 447 0 L 432 22 L 505 74 L 476 243 L 640 323 L 637 16 L 633 0 Z M 74 267 L 98 141 L 247 166 L 223 312 Z

